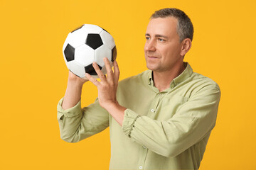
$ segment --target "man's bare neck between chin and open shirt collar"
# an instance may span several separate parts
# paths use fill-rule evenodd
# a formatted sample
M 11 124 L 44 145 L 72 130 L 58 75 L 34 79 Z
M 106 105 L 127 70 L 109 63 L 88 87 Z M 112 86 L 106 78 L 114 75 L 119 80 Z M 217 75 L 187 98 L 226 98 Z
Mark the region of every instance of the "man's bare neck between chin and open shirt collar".
M 184 64 L 182 63 L 180 66 L 174 67 L 171 70 L 168 70 L 166 72 L 154 72 L 153 71 L 153 80 L 154 80 L 154 86 L 156 86 L 159 91 L 164 91 L 165 89 L 168 89 L 171 81 L 178 77 L 179 74 L 181 74 L 185 69 Z

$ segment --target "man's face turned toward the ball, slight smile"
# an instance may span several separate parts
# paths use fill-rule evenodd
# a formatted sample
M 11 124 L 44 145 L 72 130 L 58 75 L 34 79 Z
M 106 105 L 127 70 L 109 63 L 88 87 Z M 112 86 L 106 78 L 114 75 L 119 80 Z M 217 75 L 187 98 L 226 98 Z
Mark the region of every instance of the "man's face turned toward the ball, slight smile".
M 154 72 L 171 71 L 183 63 L 174 17 L 153 18 L 146 28 L 146 67 Z

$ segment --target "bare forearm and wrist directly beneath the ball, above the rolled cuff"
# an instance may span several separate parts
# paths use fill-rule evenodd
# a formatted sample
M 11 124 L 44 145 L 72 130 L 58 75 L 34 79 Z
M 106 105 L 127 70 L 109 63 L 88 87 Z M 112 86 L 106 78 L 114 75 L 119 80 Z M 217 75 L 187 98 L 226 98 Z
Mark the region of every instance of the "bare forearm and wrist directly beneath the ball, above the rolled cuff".
M 65 96 L 63 99 L 62 107 L 63 109 L 72 108 L 81 99 L 82 85 L 88 81 L 87 79 L 82 79 L 73 72 L 68 72 L 68 86 L 65 91 Z

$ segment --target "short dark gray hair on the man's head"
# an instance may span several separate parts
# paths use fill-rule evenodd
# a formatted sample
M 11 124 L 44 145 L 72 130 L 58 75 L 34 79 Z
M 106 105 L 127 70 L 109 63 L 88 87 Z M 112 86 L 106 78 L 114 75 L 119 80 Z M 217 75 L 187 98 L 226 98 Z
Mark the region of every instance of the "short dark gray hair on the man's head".
M 184 39 L 189 38 L 191 41 L 193 40 L 193 24 L 183 11 L 177 8 L 163 8 L 159 11 L 155 11 L 150 19 L 153 18 L 166 18 L 168 16 L 173 16 L 178 20 L 177 23 L 177 33 L 179 36 L 180 42 Z

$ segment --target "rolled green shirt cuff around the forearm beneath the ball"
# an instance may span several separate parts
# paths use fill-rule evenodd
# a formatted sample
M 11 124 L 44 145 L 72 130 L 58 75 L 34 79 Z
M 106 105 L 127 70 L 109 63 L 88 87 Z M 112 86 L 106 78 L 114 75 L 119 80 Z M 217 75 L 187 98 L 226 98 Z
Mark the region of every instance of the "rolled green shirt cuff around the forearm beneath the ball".
M 64 110 L 62 107 L 63 99 L 64 99 L 64 97 L 60 99 L 60 101 L 58 102 L 58 105 L 57 105 L 58 120 L 60 120 L 63 117 L 63 115 L 65 117 L 74 117 L 74 116 L 80 115 L 82 113 L 81 100 L 78 101 L 78 103 L 75 106 L 73 106 L 72 108 L 68 108 L 68 109 Z

